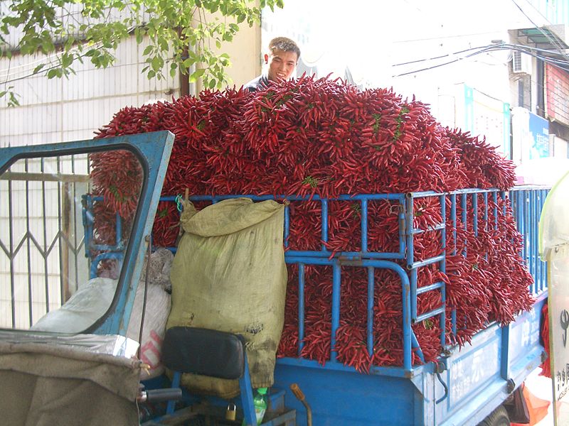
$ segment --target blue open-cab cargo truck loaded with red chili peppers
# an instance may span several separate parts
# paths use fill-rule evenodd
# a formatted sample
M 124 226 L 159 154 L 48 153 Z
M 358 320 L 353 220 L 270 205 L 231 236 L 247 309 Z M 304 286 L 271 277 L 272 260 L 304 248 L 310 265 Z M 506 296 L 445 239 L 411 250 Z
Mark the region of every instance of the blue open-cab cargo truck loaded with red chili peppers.
M 174 135 L 168 131 L 142 133 L 115 138 L 73 141 L 39 146 L 3 148 L 0 151 L 1 187 L 1 312 L 0 331 L 0 407 L 7 425 L 48 424 L 253 424 L 252 388 L 248 380 L 246 351 L 234 336 L 188 337 L 178 344 L 193 354 L 197 346 L 230 342 L 225 355 L 212 355 L 211 363 L 240 384 L 240 398 L 221 400 L 179 392 L 179 370 L 196 372 L 176 356 L 164 364 L 175 371 L 149 381 L 141 380 L 140 352 L 127 338 L 141 280 L 144 257 L 151 253 L 151 234 L 159 202 L 176 204 L 176 197 L 161 197 Z M 117 217 L 112 224 L 115 245 L 97 245 L 93 224 L 96 209 L 90 199 L 88 155 L 111 151 L 129 152 L 139 161 L 142 173 L 140 192 L 131 224 Z M 110 190 L 113 190 L 110 187 Z M 302 356 L 282 357 L 275 366 L 275 383 L 268 393 L 268 408 L 262 425 L 509 425 L 523 417 L 521 385 L 529 373 L 546 360 L 541 341 L 542 309 L 547 300 L 546 266 L 538 258 L 538 222 L 546 200 L 546 187 L 514 187 L 509 192 L 496 189 L 469 189 L 453 192 L 408 192 L 403 194 L 346 195 L 339 200 L 358 203 L 361 209 L 362 250 L 331 253 L 323 244 L 320 251 L 285 251 L 287 264 L 299 271 L 307 266 L 328 266 L 333 271 L 331 297 L 331 347 L 322 365 Z M 220 202 L 239 195 L 198 195 L 194 201 Z M 253 197 L 255 202 L 274 199 Z M 489 215 L 488 200 L 509 199 L 516 226 L 523 236 L 521 256 L 533 276 L 528 292 L 531 310 L 516 315 L 514 322 L 486 324 L 463 345 L 449 344 L 441 327 L 443 350 L 436 361 L 417 362 L 422 354 L 413 324 L 432 318 L 445 323 L 445 283 L 418 288 L 416 271 L 437 263 L 445 267 L 450 249 L 432 258 L 413 258 L 414 239 L 421 230 L 413 224 L 415 200 L 430 198 L 442 206 L 442 222 L 432 230 L 442 233 L 445 221 L 457 224 L 457 206 L 473 205 L 476 217 Z M 292 197 L 293 201 L 318 202 L 322 240 L 326 241 L 327 205 L 320 197 Z M 368 206 L 377 200 L 396 204 L 399 247 L 393 253 L 367 250 Z M 479 215 L 477 200 L 485 200 L 486 212 Z M 446 217 L 446 206 L 451 216 Z M 462 209 L 466 214 L 467 209 Z M 290 215 L 285 207 L 284 241 L 287 241 Z M 453 217 L 454 215 L 454 217 Z M 460 218 L 458 218 L 460 219 Z M 476 221 L 475 221 L 476 222 Z M 464 221 L 466 223 L 466 221 Z M 476 222 L 477 223 L 477 222 Z M 487 226 L 492 226 L 487 223 Z M 99 224 L 99 226 L 102 226 Z M 111 226 L 111 225 L 108 225 Z M 480 224 L 479 226 L 483 226 Z M 125 236 L 125 239 L 119 238 Z M 456 237 L 455 237 L 456 238 Z M 123 241 L 127 241 L 124 244 Z M 85 256 L 87 253 L 87 256 Z M 85 283 L 95 279 L 97 264 L 117 259 L 119 270 L 104 313 L 90 318 L 87 327 L 76 332 L 41 332 L 34 324 L 70 300 Z M 403 323 L 400 339 L 403 361 L 400 366 L 371 366 L 357 371 L 336 359 L 336 331 L 340 326 L 342 268 L 363 268 L 373 295 L 373 271 L 393 271 L 400 280 Z M 443 269 L 444 271 L 444 269 Z M 302 299 L 303 273 L 299 273 Z M 89 281 L 90 282 L 90 281 Z M 142 284 L 141 284 L 142 283 Z M 419 314 L 418 296 L 440 292 L 442 305 Z M 83 303 L 83 304 L 82 304 Z M 75 305 L 73 315 L 82 317 L 94 300 Z M 304 310 L 299 308 L 299 353 L 302 349 Z M 368 300 L 368 315 L 373 306 Z M 143 320 L 144 321 L 144 318 Z M 373 346 L 373 329 L 368 321 L 366 344 Z M 456 322 L 454 322 L 456 324 Z M 201 340 L 200 340 L 201 339 Z M 205 340 L 204 340 L 205 339 Z M 184 343 L 185 342 L 185 343 Z M 205 343 L 204 343 L 205 342 Z M 209 342 L 209 343 L 208 343 Z M 174 345 L 174 346 L 172 346 Z M 166 346 L 166 345 L 165 345 Z M 166 351 L 166 347 L 163 347 Z M 170 347 L 172 346 L 172 347 Z M 176 344 L 170 344 L 169 353 Z M 216 346 L 216 344 L 213 344 Z M 217 346 L 216 346 L 217 347 Z M 133 349 L 134 348 L 134 349 Z M 229 355 L 228 355 L 229 354 Z M 163 354 L 163 358 L 164 358 Z M 218 358 L 216 358 L 218 356 Z M 236 361 L 228 356 L 236 356 Z M 197 364 L 200 364 L 197 362 Z M 147 367 L 147 366 L 146 366 Z M 215 375 L 210 366 L 205 370 Z M 209 368 L 209 370 L 208 370 Z M 215 369 L 215 368 L 214 368 Z M 202 373 L 203 373 L 202 371 Z M 199 371 L 198 371 L 199 372 Z M 233 375 L 232 375 L 233 374 Z M 177 377 L 177 378 L 176 378 Z M 166 400 L 167 404 L 153 403 Z M 177 402 L 175 401 L 177 400 Z M 236 413 L 236 415 L 235 415 Z M 227 417 L 225 417 L 227 415 Z M 235 415 L 236 420 L 230 419 Z M 177 422 L 177 423 L 176 423 Z M 210 424 L 210 423 L 208 423 Z

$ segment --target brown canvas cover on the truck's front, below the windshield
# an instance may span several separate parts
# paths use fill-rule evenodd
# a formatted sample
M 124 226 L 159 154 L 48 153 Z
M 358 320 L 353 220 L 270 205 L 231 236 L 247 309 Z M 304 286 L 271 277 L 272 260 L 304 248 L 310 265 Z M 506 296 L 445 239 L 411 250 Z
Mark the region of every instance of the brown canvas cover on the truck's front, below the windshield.
M 76 347 L 0 342 L 1 424 L 139 425 L 139 362 Z

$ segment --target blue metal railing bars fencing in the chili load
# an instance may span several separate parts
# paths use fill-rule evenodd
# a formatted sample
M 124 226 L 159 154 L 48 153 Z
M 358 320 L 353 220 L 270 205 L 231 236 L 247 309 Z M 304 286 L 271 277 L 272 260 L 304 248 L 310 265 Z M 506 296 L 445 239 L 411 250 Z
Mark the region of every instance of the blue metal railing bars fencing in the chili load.
M 514 217 L 517 221 L 517 229 L 523 236 L 522 258 L 528 264 L 529 271 L 533 275 L 534 283 L 528 290 L 533 295 L 543 293 L 547 288 L 546 283 L 546 267 L 538 258 L 538 221 L 539 214 L 545 202 L 547 191 L 544 188 L 514 188 L 509 192 L 511 207 Z M 506 200 L 506 192 L 499 190 L 457 190 L 450 193 L 437 192 L 410 192 L 407 194 L 379 194 L 379 195 L 344 195 L 334 199 L 321 199 L 317 195 L 312 197 L 274 197 L 250 196 L 250 195 L 220 195 L 220 196 L 193 196 L 189 197 L 193 202 L 211 202 L 216 203 L 220 200 L 226 200 L 236 197 L 248 197 L 255 201 L 263 200 L 288 200 L 289 202 L 319 202 L 321 215 L 321 247 L 319 250 L 297 251 L 289 248 L 289 235 L 291 224 L 291 212 L 289 205 L 285 206 L 285 261 L 288 264 L 295 263 L 299 268 L 298 289 L 299 289 L 299 346 L 297 353 L 301 354 L 304 339 L 304 292 L 305 292 L 305 275 L 304 268 L 309 265 L 331 266 L 332 267 L 332 307 L 331 307 L 331 354 L 330 368 L 339 368 L 336 364 L 336 330 L 340 321 L 340 295 L 341 295 L 341 266 L 358 266 L 366 268 L 368 273 L 368 292 L 367 292 L 367 325 L 366 325 L 366 346 L 370 355 L 373 354 L 373 295 L 376 292 L 376 284 L 374 283 L 374 271 L 376 268 L 390 269 L 398 274 L 401 280 L 401 296 L 403 302 L 403 370 L 410 371 L 412 366 L 413 350 L 422 359 L 422 351 L 417 342 L 415 334 L 413 334 L 412 324 L 422 322 L 432 317 L 438 317 L 441 324 L 440 343 L 443 347 L 447 346 L 447 336 L 445 327 L 442 324 L 446 322 L 446 286 L 445 282 L 440 280 L 430 285 L 418 288 L 418 270 L 424 266 L 437 264 L 442 273 L 446 273 L 446 253 L 452 255 L 457 254 L 457 226 L 467 230 L 467 226 L 472 226 L 474 236 L 478 236 L 479 229 L 489 229 L 498 226 L 498 203 L 499 200 Z M 425 229 L 415 228 L 413 219 L 415 217 L 415 202 L 421 199 L 434 199 L 440 204 L 441 221 L 427 226 Z M 457 200 L 458 198 L 458 200 Z M 396 202 L 398 205 L 398 251 L 393 252 L 373 252 L 368 251 L 368 207 L 370 202 L 378 200 Z M 494 204 L 492 214 L 489 214 L 489 200 Z M 96 197 L 85 203 L 87 207 L 92 209 L 92 201 L 97 201 Z M 176 202 L 176 197 L 161 197 L 163 202 Z M 329 203 L 335 201 L 351 201 L 358 202 L 361 207 L 361 251 L 342 251 L 334 253 L 326 248 L 329 241 Z M 448 204 L 448 205 L 447 205 Z M 458 205 L 457 205 L 458 204 Z M 481 210 L 482 209 L 482 210 Z M 460 217 L 457 217 L 457 211 Z M 467 220 L 467 215 L 472 213 L 472 220 Z M 506 214 L 506 207 L 502 208 L 502 214 Z M 479 219 L 482 214 L 482 221 Z M 86 217 L 89 215 L 87 214 Z M 84 216 L 85 217 L 85 216 Z M 491 218 L 494 223 L 491 223 Z M 447 228 L 450 224 L 450 228 Z M 120 235 L 121 225 L 117 218 L 117 235 Z M 86 227 L 87 229 L 87 227 Z M 92 232 L 92 219 L 90 227 Z M 430 258 L 415 260 L 415 238 L 426 231 L 435 232 L 437 238 L 440 239 L 440 251 Z M 101 246 L 92 244 L 92 238 L 86 239 L 87 256 L 89 253 L 96 251 L 122 251 L 120 238 L 116 239 L 115 246 Z M 454 244 L 450 246 L 450 241 Z M 466 246 L 466 244 L 464 244 Z M 173 248 L 172 248 L 173 249 Z M 175 249 L 173 249 L 175 251 Z M 466 256 L 466 249 L 462 252 Z M 91 256 L 92 258 L 94 256 Z M 120 256 L 117 256 L 120 258 Z M 406 270 L 405 270 L 406 268 Z M 96 267 L 92 269 L 96 271 Z M 418 295 L 427 292 L 440 292 L 441 304 L 429 312 L 418 315 Z M 452 333 L 457 333 L 457 314 L 456 310 L 451 311 Z

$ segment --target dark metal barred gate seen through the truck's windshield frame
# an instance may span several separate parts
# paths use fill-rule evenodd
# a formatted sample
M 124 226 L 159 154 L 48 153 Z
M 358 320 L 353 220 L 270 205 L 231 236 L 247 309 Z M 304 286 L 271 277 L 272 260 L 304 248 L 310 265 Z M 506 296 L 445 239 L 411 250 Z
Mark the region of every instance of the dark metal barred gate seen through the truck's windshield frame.
M 23 171 L 14 172 L 13 168 L 9 169 L 0 178 L 1 180 L 6 180 L 7 185 L 5 191 L 7 192 L 6 198 L 8 201 L 8 241 L 7 246 L 4 241 L 0 241 L 0 249 L 9 261 L 9 271 L 5 271 L 10 274 L 10 299 L 9 299 L 9 310 L 10 319 L 8 323 L 2 324 L 2 327 L 16 328 L 26 328 L 31 326 L 38 316 L 43 315 L 43 313 L 49 312 L 51 305 L 56 300 L 58 304 L 63 304 L 65 298 L 63 297 L 63 286 L 69 279 L 62 271 L 62 249 L 63 244 L 61 244 L 62 239 L 65 236 L 62 232 L 63 224 L 63 214 L 62 211 L 62 181 L 65 185 L 72 185 L 73 182 L 87 182 L 88 176 L 86 175 L 64 175 L 60 173 L 60 158 L 55 158 L 57 162 L 55 165 L 56 173 L 52 173 L 51 170 L 45 172 L 46 163 L 41 160 L 40 167 L 41 173 L 32 173 L 33 164 L 30 159 L 24 158 L 22 160 Z M 18 185 L 14 185 L 14 182 L 21 182 Z M 39 183 L 37 186 L 32 186 L 31 182 Z M 46 182 L 58 182 L 57 185 L 46 185 Z M 75 187 L 75 185 L 73 185 Z M 48 219 L 48 213 L 52 214 L 54 207 L 49 206 L 48 190 L 57 190 L 57 202 L 58 205 L 55 208 L 58 214 L 58 220 L 55 222 L 56 229 L 53 230 L 55 234 L 54 238 L 51 239 L 51 233 L 48 235 L 48 229 L 50 228 L 50 219 Z M 74 188 L 75 190 L 75 188 Z M 21 194 L 16 193 L 22 192 Z M 36 194 L 38 197 L 38 207 L 36 210 L 32 209 L 33 200 L 31 199 L 31 194 Z M 17 203 L 17 204 L 16 204 Z M 16 214 L 15 206 L 18 207 L 21 213 Z M 48 206 L 50 208 L 48 208 Z M 25 216 L 24 216 L 25 215 Z M 37 215 L 34 216 L 34 215 Z M 39 217 L 41 215 L 41 217 Z M 20 221 L 23 226 L 23 234 L 21 237 L 18 236 L 18 241 L 16 241 L 16 220 Z M 36 234 L 34 234 L 36 232 Z M 83 245 L 83 232 L 77 232 L 75 229 L 75 244 L 69 244 L 68 249 L 74 253 L 75 259 L 73 260 L 77 264 L 78 251 L 80 246 Z M 69 242 L 69 241 L 68 241 Z M 78 249 L 79 246 L 79 249 Z M 35 256 L 41 256 L 41 261 L 36 262 Z M 17 261 L 17 256 L 20 256 L 22 261 Z M 53 264 L 57 264 L 60 267 L 59 271 L 52 271 L 53 266 L 50 265 L 50 259 L 53 256 L 58 257 L 58 261 L 53 261 Z M 36 275 L 34 268 L 40 268 L 41 275 L 41 285 L 43 287 L 44 293 L 43 297 L 38 296 L 37 290 L 34 290 L 33 275 Z M 25 277 L 17 278 L 18 274 L 25 273 Z M 50 285 L 50 276 L 56 277 L 59 280 L 59 285 L 54 288 Z M 75 267 L 75 282 L 78 282 L 78 267 Z M 16 288 L 17 287 L 17 288 Z M 60 293 L 58 295 L 57 293 Z M 25 295 L 25 304 L 22 302 L 24 300 L 18 300 L 16 297 L 18 294 Z M 8 302 L 8 301 L 6 301 Z M 34 307 L 36 306 L 36 307 Z M 39 311 L 38 311 L 39 309 Z M 43 311 L 43 313 L 42 313 Z

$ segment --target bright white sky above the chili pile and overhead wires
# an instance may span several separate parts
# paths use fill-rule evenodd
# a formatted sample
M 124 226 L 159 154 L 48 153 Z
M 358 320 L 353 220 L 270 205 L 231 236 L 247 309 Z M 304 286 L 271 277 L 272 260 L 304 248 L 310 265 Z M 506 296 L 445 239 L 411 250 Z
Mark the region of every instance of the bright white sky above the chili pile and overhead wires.
M 434 62 L 393 64 L 489 45 L 494 39 L 508 41 L 504 28 L 529 28 L 531 21 L 544 20 L 526 0 L 285 0 L 284 9 L 268 11 L 264 18 L 269 22 L 264 44 L 275 35 L 288 35 L 299 42 L 305 63 L 318 62 L 319 75 L 343 77 L 349 65 L 356 82 L 373 86 L 397 84 L 393 75 Z M 504 63 L 508 55 L 476 59 Z M 452 67 L 447 69 L 452 74 Z

